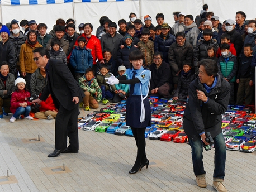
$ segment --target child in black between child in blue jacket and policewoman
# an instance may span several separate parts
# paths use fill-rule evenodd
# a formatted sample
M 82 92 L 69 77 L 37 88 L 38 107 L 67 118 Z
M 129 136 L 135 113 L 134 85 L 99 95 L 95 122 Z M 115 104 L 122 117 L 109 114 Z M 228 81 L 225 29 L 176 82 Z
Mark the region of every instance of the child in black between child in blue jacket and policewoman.
M 113 75 L 118 75 L 117 73 L 117 63 L 115 60 L 112 59 L 112 51 L 109 48 L 105 48 L 102 51 L 102 55 L 104 58 L 104 64 L 108 66 L 108 69 L 110 70 L 110 73 Z M 101 63 L 98 61 L 96 64 L 96 71 L 98 73 L 99 69 L 101 69 Z

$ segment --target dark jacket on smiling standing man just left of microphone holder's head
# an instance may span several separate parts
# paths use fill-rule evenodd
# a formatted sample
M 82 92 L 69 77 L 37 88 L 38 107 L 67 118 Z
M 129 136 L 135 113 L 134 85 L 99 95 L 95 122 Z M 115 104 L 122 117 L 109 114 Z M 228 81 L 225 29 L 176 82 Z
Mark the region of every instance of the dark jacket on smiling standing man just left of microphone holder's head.
M 182 69 L 182 63 L 184 60 L 193 62 L 193 46 L 189 42 L 185 41 L 183 46 L 179 46 L 177 42 L 174 42 L 168 52 L 168 59 L 170 67 L 173 71 L 178 73 Z

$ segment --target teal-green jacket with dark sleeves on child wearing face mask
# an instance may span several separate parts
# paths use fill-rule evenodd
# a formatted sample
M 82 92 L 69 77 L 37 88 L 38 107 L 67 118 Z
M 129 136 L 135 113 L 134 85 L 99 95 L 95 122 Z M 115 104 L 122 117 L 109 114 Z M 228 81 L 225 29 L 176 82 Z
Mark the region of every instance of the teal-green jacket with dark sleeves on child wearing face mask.
M 235 82 L 235 75 L 238 70 L 238 61 L 235 55 L 231 55 L 226 59 L 220 56 L 217 65 L 222 78 L 227 78 L 230 82 Z

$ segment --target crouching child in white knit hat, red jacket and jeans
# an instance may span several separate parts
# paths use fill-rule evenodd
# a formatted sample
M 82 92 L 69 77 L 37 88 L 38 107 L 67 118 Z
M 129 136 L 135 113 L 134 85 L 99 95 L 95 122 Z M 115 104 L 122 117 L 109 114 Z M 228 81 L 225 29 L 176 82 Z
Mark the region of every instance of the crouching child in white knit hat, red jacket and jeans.
M 31 111 L 30 105 L 32 104 L 27 100 L 30 97 L 30 92 L 26 90 L 26 81 L 23 78 L 17 78 L 15 80 L 16 90 L 13 92 L 11 97 L 11 107 L 12 117 L 10 122 L 15 122 L 16 118 L 21 114 L 24 115 L 24 119 L 32 120 L 33 117 L 29 116 Z

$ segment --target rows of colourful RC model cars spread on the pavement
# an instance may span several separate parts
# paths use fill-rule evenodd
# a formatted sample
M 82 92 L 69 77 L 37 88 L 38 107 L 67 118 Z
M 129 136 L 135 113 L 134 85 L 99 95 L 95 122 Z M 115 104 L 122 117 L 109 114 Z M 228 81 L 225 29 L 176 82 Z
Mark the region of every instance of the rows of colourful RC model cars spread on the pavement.
M 145 137 L 150 140 L 188 142 L 183 131 L 183 113 L 186 100 L 167 100 L 151 97 L 152 125 L 146 128 Z M 229 105 L 222 115 L 222 133 L 227 150 L 253 152 L 256 149 L 256 115 L 254 106 Z M 107 132 L 115 135 L 133 136 L 130 126 L 125 123 L 126 102 L 111 104 L 100 111 L 80 118 L 78 129 Z

